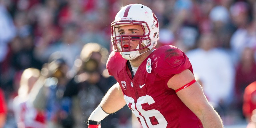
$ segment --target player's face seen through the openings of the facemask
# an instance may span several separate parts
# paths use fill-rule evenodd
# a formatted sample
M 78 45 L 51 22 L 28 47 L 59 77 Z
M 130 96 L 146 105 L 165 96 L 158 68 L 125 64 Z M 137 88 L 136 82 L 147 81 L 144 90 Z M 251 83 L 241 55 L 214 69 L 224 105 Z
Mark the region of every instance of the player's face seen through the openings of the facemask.
M 120 35 L 143 35 L 144 31 L 140 25 L 125 25 L 125 26 L 120 26 L 118 33 Z M 128 37 L 123 37 L 123 38 L 128 38 Z M 129 45 L 130 45 L 130 50 L 136 49 L 136 47 L 139 44 L 139 40 L 130 40 L 130 44 L 128 40 L 123 40 L 122 42 L 122 47 L 124 50 L 128 50 Z

